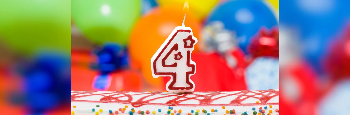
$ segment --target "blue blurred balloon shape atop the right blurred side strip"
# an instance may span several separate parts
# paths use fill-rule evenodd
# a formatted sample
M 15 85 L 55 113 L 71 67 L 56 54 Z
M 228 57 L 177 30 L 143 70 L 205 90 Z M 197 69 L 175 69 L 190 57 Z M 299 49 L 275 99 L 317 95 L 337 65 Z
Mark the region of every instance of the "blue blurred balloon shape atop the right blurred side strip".
M 350 19 L 349 0 L 283 0 L 280 2 L 280 25 L 292 26 L 300 34 L 303 57 L 322 74 L 322 59 L 331 41 Z M 283 13 L 282 13 L 283 12 Z

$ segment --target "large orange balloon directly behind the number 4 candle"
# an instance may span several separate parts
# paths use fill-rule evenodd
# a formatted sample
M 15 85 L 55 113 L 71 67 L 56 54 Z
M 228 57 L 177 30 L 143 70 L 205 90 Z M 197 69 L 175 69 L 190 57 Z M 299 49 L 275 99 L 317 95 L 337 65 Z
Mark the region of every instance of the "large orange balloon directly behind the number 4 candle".
M 182 10 L 155 8 L 142 17 L 134 27 L 130 39 L 130 55 L 132 65 L 141 67 L 144 74 L 146 85 L 151 86 L 152 89 L 163 89 L 162 77 L 153 78 L 151 73 L 151 58 L 159 49 L 167 37 L 177 26 L 181 26 L 184 14 Z M 192 14 L 187 14 L 185 20 L 186 27 L 191 27 L 193 35 L 198 39 L 200 44 L 200 32 L 202 27 L 200 22 Z M 198 45 L 195 45 L 196 52 Z

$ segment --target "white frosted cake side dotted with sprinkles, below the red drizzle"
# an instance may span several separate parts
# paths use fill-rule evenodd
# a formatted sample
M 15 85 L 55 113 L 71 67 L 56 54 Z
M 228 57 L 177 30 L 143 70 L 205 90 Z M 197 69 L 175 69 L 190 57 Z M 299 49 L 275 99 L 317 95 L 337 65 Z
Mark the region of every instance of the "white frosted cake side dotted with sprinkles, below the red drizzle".
M 141 107 L 133 107 L 132 105 L 129 104 L 122 104 L 122 103 L 95 103 L 95 102 L 72 102 L 71 103 L 72 106 L 76 106 L 76 108 L 71 107 L 71 111 L 75 112 L 75 115 L 95 115 L 95 112 L 98 112 L 99 109 L 103 109 L 103 112 L 99 112 L 99 115 L 109 115 L 109 110 L 112 110 L 112 112 L 114 113 L 115 111 L 118 111 L 119 114 L 118 115 L 129 115 L 129 111 L 131 111 L 131 108 L 135 109 L 135 113 L 133 113 L 134 115 L 141 115 L 138 114 L 137 111 L 141 110 L 144 111 L 145 114 L 144 115 L 154 115 L 152 113 L 152 111 L 155 111 L 156 114 L 155 115 L 165 115 L 167 114 L 168 111 L 168 107 L 169 106 L 163 106 L 163 105 L 144 105 Z M 96 105 L 100 105 L 100 107 L 96 107 Z M 128 106 L 128 108 L 126 108 L 124 113 L 121 113 L 118 109 L 119 108 L 125 108 L 124 106 Z M 265 107 L 267 106 L 267 109 L 262 108 L 263 110 L 265 110 L 265 115 L 267 115 L 269 110 L 272 110 L 273 112 L 271 113 L 271 115 L 278 115 L 278 112 L 275 112 L 275 109 L 279 109 L 278 105 L 272 105 L 272 108 L 269 108 L 269 105 L 259 105 L 259 106 L 225 106 L 225 109 L 222 109 L 222 106 L 172 106 L 174 109 L 171 111 L 171 113 L 174 113 L 174 110 L 176 110 L 177 112 L 174 113 L 175 115 L 177 113 L 179 113 L 179 109 L 182 110 L 180 115 L 187 115 L 188 113 L 191 113 L 191 110 L 194 110 L 196 112 L 197 109 L 200 110 L 199 115 L 207 115 L 207 113 L 203 113 L 202 110 L 205 109 L 208 111 L 208 113 L 210 115 L 223 115 L 226 114 L 225 111 L 226 110 L 232 110 L 235 109 L 236 110 L 236 115 L 240 115 L 244 112 L 247 112 L 248 115 L 253 115 L 254 110 L 252 110 L 253 107 L 256 108 L 256 112 L 259 113 L 259 108 L 260 107 Z M 95 109 L 95 112 L 92 112 L 92 108 Z M 161 112 L 158 112 L 158 109 L 161 109 Z M 211 112 L 211 109 L 217 109 L 218 112 Z M 149 114 L 146 114 L 146 110 L 149 110 Z M 194 115 L 194 113 L 191 113 L 192 115 Z M 231 114 L 231 115 L 235 115 L 235 114 Z M 115 114 L 114 114 L 115 115 Z M 226 115 L 230 115 L 226 114 Z

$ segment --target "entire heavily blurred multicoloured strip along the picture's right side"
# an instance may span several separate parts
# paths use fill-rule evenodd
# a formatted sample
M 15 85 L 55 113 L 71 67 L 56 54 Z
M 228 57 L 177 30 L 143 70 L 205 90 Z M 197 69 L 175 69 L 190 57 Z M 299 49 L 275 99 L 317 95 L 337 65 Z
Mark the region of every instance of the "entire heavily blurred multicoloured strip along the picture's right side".
M 349 3 L 279 3 L 281 114 L 343 114 L 350 106 Z

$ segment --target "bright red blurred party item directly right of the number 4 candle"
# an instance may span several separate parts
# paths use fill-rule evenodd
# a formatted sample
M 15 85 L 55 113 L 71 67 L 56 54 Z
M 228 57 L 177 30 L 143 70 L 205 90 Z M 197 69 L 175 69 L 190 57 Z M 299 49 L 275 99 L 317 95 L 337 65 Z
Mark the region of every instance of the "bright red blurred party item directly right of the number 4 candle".
M 235 70 L 230 69 L 225 59 L 217 53 L 193 53 L 196 62 L 196 74 L 191 76 L 195 82 L 196 92 L 200 91 L 240 91 L 246 90 L 244 77 L 236 77 Z M 210 60 L 210 61 L 209 61 Z M 164 83 L 170 77 L 164 77 Z

